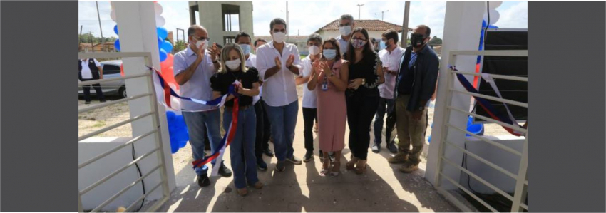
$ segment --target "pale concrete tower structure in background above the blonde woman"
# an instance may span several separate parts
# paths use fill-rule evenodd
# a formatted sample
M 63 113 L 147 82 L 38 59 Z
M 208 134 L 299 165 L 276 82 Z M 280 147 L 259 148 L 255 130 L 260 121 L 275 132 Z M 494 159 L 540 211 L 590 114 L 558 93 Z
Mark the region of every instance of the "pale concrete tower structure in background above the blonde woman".
M 245 31 L 254 37 L 252 31 L 252 1 L 193 1 L 197 2 L 200 11 L 200 23 L 208 31 L 211 42 L 225 44 L 223 36 L 236 36 L 239 31 L 223 31 L 222 4 L 240 6 L 240 31 Z M 190 1 L 190 6 L 192 1 Z M 194 11 L 190 10 L 190 13 Z

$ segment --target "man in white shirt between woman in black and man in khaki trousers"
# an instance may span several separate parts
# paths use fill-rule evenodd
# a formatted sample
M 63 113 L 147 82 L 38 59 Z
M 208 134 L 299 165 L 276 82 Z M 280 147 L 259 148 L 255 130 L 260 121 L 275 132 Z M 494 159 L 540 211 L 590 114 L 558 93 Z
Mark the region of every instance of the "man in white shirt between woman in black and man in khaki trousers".
M 379 98 L 379 108 L 376 109 L 376 117 L 374 118 L 374 144 L 371 150 L 375 153 L 379 153 L 381 150 L 383 118 L 386 113 L 389 115 L 394 110 L 394 88 L 396 87 L 400 58 L 404 54 L 404 48 L 398 46 L 398 32 L 393 29 L 389 29 L 383 33 L 380 46 L 379 58 L 381 58 L 381 63 L 384 66 L 385 83 L 379 85 L 379 95 L 381 98 Z M 386 147 L 391 153 L 398 152 L 396 142 L 391 140 L 391 130 L 393 130 L 394 125 L 393 123 L 387 123 L 385 131 Z

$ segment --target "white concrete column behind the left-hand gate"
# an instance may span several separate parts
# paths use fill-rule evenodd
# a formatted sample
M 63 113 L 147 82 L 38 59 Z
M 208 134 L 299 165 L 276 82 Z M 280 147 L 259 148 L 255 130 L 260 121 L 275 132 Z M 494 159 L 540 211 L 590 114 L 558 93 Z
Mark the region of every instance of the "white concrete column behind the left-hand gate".
M 118 22 L 118 31 L 120 32 L 120 48 L 122 52 L 150 52 L 151 61 L 155 68 L 160 68 L 160 56 L 158 51 L 158 35 L 156 33 L 155 13 L 152 1 L 112 1 L 115 6 L 115 17 Z M 145 68 L 144 58 L 123 58 L 124 73 L 133 75 L 139 73 L 148 73 Z M 148 79 L 134 78 L 126 80 L 126 93 L 128 96 L 148 93 Z M 143 113 L 148 113 L 153 109 L 149 98 L 138 98 L 128 102 L 130 108 L 130 117 L 133 118 Z M 175 172 L 173 168 L 173 158 L 170 153 L 170 137 L 168 135 L 168 125 L 166 122 L 166 110 L 163 105 L 158 105 L 158 116 L 160 117 L 160 133 L 163 142 L 164 163 L 168 177 L 169 190 L 175 189 Z M 142 118 L 132 123 L 133 137 L 148 133 L 153 129 L 153 120 L 151 117 Z M 143 155 L 149 152 L 155 145 L 155 135 L 150 135 L 142 140 L 135 142 L 137 155 Z M 156 165 L 158 157 L 151 155 L 144 160 L 148 163 L 141 163 L 140 169 L 143 175 L 149 172 L 153 167 L 142 165 Z M 151 189 L 160 182 L 160 175 L 150 175 L 145 178 L 145 188 Z M 150 194 L 149 199 L 159 199 L 162 197 L 162 188 L 156 189 Z

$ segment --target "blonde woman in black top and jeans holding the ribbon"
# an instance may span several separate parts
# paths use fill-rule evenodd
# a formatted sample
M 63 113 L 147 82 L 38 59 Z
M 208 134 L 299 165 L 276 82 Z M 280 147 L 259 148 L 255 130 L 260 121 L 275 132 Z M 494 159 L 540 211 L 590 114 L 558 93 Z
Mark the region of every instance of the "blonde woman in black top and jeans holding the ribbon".
M 256 189 L 263 187 L 257 178 L 257 158 L 255 157 L 255 135 L 257 118 L 252 108 L 252 97 L 259 94 L 259 72 L 254 67 L 245 66 L 242 48 L 235 43 L 227 43 L 221 51 L 221 68 L 210 78 L 213 98 L 219 98 L 234 85 L 238 97 L 238 115 L 235 137 L 230 144 L 230 158 L 234 170 L 234 184 L 241 196 L 248 194 L 247 183 Z M 225 101 L 223 128 L 228 130 L 232 123 L 234 95 Z M 242 159 L 242 157 L 244 159 Z

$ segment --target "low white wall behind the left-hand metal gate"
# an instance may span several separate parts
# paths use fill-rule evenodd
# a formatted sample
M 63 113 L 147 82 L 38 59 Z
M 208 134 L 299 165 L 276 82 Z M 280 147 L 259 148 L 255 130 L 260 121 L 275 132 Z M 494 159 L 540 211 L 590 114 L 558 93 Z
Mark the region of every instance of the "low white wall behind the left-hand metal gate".
M 81 164 L 86 160 L 90 160 L 91 158 L 111 150 L 118 145 L 122 145 L 125 142 L 128 142 L 130 139 L 130 137 L 89 137 L 86 140 L 78 142 L 78 164 Z M 143 155 L 150 150 L 153 150 L 153 147 L 155 147 L 153 140 L 140 140 L 135 142 L 135 158 L 140 157 L 140 155 Z M 133 161 L 132 147 L 129 145 L 106 157 L 101 158 L 101 160 L 83 167 L 82 169 L 78 170 L 78 191 L 93 185 L 93 183 L 101 180 L 103 177 L 106 177 L 115 170 L 127 165 L 131 161 Z M 156 155 L 149 155 L 141 160 L 138 165 L 142 175 L 150 172 L 155 165 L 158 165 L 157 162 L 158 156 Z M 155 187 L 155 185 L 160 183 L 159 171 L 160 169 L 156 170 L 143 180 L 145 181 L 146 192 L 149 193 L 149 190 L 152 187 Z M 120 192 L 120 190 L 124 189 L 138 178 L 138 172 L 134 165 L 123 172 L 118 173 L 118 175 L 115 175 L 107 182 L 104 182 L 82 196 L 83 209 L 92 210 L 98 207 L 99 204 L 105 202 L 107 199 Z M 161 194 L 158 192 L 162 192 L 162 187 L 155 189 L 154 192 L 154 197 L 160 197 Z M 131 187 L 120 197 L 108 204 L 105 208 L 101 209 L 101 211 L 115 212 L 115 210 L 120 206 L 128 207 L 130 204 L 133 204 L 133 202 L 135 202 L 135 200 L 141 195 L 143 195 L 143 189 L 141 183 L 139 182 L 137 185 Z

